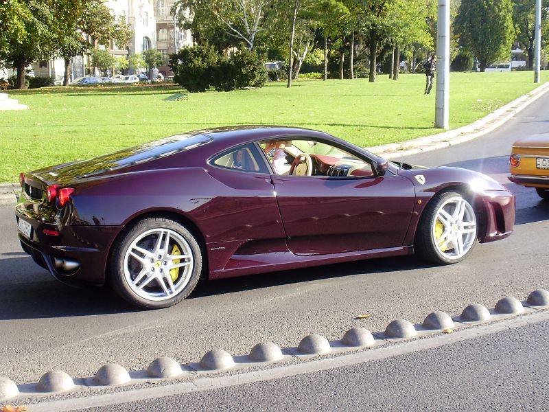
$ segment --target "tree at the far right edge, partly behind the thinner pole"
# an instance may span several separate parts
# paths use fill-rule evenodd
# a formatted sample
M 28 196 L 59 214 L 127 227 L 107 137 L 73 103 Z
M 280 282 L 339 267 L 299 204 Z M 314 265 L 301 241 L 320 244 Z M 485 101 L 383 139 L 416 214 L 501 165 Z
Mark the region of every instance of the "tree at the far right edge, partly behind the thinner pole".
M 534 67 L 535 7 L 532 0 L 513 0 L 513 27 L 520 46 L 526 52 L 528 70 Z M 541 2 L 541 47 L 548 44 L 549 1 Z

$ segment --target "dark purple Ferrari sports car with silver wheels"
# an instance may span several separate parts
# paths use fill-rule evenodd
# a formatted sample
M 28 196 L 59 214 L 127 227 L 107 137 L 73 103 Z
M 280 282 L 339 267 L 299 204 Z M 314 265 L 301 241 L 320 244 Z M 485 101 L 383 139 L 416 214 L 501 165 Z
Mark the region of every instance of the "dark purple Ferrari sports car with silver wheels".
M 164 308 L 208 279 L 419 253 L 463 260 L 513 231 L 483 174 L 388 162 L 314 130 L 198 130 L 21 173 L 23 250 L 56 279 Z

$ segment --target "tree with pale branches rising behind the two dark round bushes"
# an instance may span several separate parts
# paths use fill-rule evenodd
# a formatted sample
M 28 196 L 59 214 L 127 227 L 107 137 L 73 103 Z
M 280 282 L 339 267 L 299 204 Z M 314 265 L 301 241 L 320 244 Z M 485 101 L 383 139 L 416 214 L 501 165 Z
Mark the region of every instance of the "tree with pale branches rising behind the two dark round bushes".
M 264 15 L 271 0 L 177 0 L 172 12 L 183 27 L 202 33 L 223 32 L 252 50 L 264 31 Z M 206 37 L 206 36 L 205 36 Z M 208 36 L 211 41 L 211 37 Z

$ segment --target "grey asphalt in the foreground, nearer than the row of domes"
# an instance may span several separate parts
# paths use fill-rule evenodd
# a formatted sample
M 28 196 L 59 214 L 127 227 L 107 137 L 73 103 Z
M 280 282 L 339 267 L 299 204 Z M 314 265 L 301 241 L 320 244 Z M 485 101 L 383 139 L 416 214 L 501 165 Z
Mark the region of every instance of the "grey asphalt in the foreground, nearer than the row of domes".
M 80 411 L 547 411 L 548 339 L 544 321 L 350 367 Z

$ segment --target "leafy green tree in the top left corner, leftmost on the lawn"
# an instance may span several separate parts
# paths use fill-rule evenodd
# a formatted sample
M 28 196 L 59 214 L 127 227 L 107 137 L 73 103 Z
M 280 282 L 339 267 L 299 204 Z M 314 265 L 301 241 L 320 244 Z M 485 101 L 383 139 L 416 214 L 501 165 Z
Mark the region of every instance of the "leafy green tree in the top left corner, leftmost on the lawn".
M 21 6 L 21 7 L 19 7 Z M 12 12 L 23 11 L 14 17 Z M 54 12 L 44 1 L 27 0 L 10 5 L 10 32 L 2 32 L 0 38 L 6 47 L 0 47 L 0 60 L 17 70 L 17 89 L 25 89 L 25 68 L 32 62 L 49 58 L 56 48 L 56 21 Z M 2 13 L 5 11 L 3 10 Z

